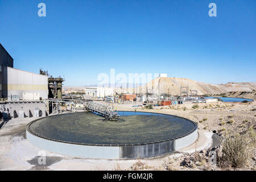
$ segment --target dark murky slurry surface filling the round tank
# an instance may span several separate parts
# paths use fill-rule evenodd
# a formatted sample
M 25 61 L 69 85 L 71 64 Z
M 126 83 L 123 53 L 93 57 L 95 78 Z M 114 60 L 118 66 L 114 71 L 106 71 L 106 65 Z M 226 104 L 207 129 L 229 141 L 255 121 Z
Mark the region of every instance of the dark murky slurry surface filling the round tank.
M 41 137 L 83 144 L 138 144 L 187 134 L 194 123 L 172 115 L 119 112 L 120 122 L 93 113 L 72 113 L 42 118 L 30 130 Z

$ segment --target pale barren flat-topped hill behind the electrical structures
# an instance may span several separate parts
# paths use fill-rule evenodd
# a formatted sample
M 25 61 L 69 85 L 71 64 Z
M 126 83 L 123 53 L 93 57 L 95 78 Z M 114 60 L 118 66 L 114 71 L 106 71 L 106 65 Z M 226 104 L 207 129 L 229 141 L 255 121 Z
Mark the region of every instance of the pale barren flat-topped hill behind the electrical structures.
M 145 93 L 180 94 L 180 87 L 188 87 L 189 95 L 191 90 L 197 90 L 197 94 L 221 94 L 226 92 L 252 92 L 256 90 L 256 82 L 228 82 L 227 84 L 208 84 L 205 82 L 189 80 L 188 78 L 160 77 L 140 86 L 138 90 Z M 186 90 L 186 88 L 184 88 Z

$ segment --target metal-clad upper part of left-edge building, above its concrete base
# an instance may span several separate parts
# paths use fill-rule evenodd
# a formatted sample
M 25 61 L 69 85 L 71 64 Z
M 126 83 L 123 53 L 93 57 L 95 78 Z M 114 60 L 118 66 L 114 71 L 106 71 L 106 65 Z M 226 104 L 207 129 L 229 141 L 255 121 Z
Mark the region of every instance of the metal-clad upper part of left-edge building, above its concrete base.
M 13 68 L 13 58 L 0 44 L 0 98 L 39 100 L 48 98 L 48 77 Z

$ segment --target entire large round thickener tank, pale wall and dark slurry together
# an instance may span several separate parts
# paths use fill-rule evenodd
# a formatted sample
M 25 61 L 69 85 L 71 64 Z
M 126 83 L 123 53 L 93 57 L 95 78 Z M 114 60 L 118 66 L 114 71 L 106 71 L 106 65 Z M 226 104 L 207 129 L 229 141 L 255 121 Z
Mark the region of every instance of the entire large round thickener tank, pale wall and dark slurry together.
M 196 141 L 197 125 L 168 114 L 118 111 L 118 122 L 81 112 L 36 119 L 27 139 L 45 150 L 93 159 L 138 159 L 168 154 Z

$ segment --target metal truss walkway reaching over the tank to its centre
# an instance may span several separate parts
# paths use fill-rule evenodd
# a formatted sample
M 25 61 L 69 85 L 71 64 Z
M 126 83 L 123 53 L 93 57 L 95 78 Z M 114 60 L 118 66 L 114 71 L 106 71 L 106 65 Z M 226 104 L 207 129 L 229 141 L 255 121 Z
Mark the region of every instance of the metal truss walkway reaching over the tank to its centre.
M 110 121 L 118 121 L 119 115 L 113 111 L 113 108 L 104 104 L 96 102 L 86 102 L 85 109 L 87 111 L 95 112 Z

